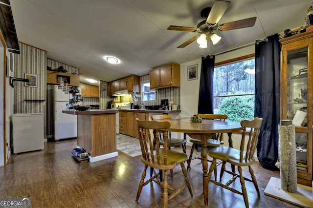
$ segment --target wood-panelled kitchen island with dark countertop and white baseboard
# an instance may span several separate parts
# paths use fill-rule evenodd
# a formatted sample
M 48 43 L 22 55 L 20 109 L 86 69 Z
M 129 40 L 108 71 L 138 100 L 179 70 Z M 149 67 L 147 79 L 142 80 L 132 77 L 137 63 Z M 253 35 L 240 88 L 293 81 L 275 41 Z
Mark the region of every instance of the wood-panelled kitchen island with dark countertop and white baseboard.
M 96 162 L 117 156 L 117 110 L 63 110 L 77 115 L 77 146 L 89 153 L 89 161 Z

